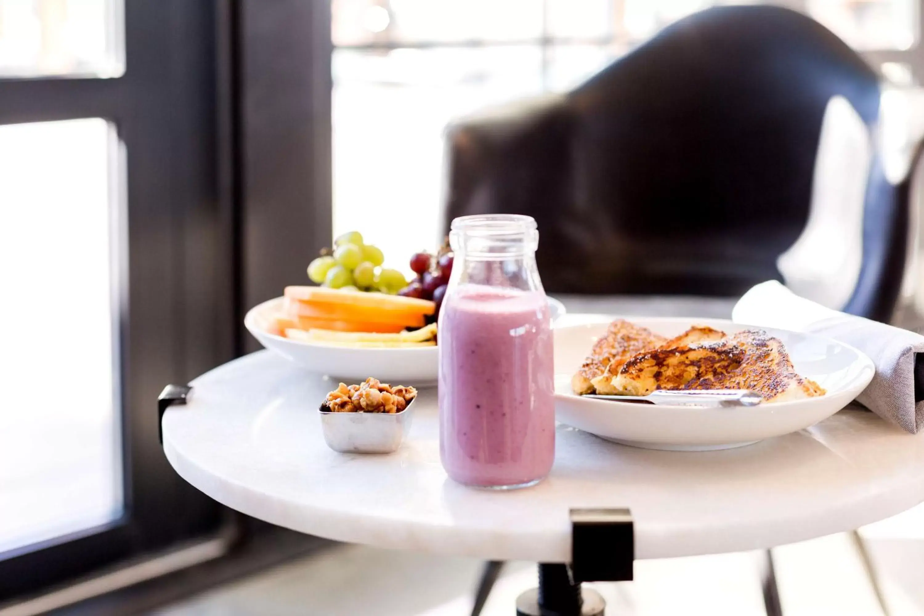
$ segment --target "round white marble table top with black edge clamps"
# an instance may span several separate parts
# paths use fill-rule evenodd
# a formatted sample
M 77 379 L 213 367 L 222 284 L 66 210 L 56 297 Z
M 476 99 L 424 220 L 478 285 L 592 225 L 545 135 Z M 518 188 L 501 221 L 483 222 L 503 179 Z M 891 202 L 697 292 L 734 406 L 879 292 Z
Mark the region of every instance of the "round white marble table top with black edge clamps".
M 330 381 L 261 351 L 193 381 L 164 414 L 164 452 L 215 500 L 277 525 L 382 548 L 566 562 L 571 507 L 631 508 L 636 558 L 767 548 L 856 528 L 924 501 L 924 435 L 845 409 L 719 452 L 662 452 L 560 425 L 540 485 L 469 489 L 440 465 L 435 390 L 396 453 L 334 453 L 317 408 Z

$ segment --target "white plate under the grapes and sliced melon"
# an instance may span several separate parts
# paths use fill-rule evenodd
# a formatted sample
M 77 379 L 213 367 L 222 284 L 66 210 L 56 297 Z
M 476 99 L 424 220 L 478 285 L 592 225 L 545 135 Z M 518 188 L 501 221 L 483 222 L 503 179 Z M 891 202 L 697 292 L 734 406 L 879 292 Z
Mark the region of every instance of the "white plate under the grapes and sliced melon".
M 375 377 L 385 382 L 400 382 L 405 385 L 432 385 L 436 382 L 436 347 L 419 348 L 348 348 L 330 344 L 310 344 L 289 340 L 283 336 L 266 332 L 261 327 L 261 316 L 278 312 L 284 297 L 276 297 L 250 308 L 244 318 L 244 326 L 260 344 L 290 361 L 334 378 L 344 380 L 365 380 Z M 557 299 L 549 298 L 553 319 L 565 314 L 565 306 Z

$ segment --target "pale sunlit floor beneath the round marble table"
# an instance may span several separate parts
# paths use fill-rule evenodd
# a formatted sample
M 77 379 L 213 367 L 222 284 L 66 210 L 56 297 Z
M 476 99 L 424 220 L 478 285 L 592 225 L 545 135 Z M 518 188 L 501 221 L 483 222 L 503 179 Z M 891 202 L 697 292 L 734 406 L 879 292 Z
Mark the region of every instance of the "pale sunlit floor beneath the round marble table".
M 885 614 L 847 534 L 773 551 L 785 616 L 924 614 L 924 510 L 864 529 Z M 913 525 L 914 524 L 914 525 Z M 895 538 L 896 536 L 905 536 Z M 641 561 L 630 583 L 589 585 L 621 616 L 762 616 L 761 552 Z M 339 546 L 158 610 L 157 616 L 467 616 L 481 562 Z M 483 614 L 509 616 L 535 585 L 531 563 L 507 563 Z

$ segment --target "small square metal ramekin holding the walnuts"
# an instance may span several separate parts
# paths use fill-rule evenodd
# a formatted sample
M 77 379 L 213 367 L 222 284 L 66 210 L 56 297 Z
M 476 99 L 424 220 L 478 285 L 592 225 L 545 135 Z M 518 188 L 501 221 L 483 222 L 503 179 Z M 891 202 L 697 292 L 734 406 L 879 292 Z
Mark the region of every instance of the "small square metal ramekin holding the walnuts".
M 411 400 L 400 413 L 334 413 L 321 405 L 321 426 L 328 447 L 340 453 L 392 453 L 410 431 Z

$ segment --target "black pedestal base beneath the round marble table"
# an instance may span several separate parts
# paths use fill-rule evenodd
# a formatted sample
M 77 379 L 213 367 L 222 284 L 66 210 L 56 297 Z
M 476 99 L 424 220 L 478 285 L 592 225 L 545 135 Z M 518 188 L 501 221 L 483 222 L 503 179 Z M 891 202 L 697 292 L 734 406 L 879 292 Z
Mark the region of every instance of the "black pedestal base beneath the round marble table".
M 539 587 L 517 598 L 517 616 L 603 616 L 606 602 L 595 590 L 581 590 L 564 564 L 539 565 Z

